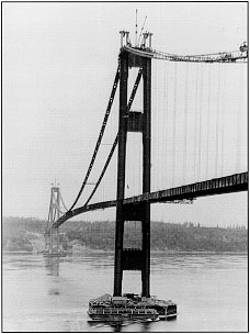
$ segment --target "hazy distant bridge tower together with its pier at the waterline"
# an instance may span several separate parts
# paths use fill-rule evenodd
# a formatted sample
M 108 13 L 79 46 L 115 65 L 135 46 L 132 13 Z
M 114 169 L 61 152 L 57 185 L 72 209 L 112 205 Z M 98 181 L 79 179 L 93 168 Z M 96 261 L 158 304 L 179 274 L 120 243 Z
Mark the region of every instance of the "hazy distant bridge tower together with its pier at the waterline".
M 48 210 L 47 226 L 45 229 L 45 250 L 44 257 L 65 257 L 66 252 L 60 247 L 59 227 L 55 227 L 54 223 L 60 218 L 60 204 L 65 207 L 58 185 L 52 185 L 50 203 Z M 66 208 L 65 208 L 66 209 Z M 66 209 L 67 210 L 67 209 Z

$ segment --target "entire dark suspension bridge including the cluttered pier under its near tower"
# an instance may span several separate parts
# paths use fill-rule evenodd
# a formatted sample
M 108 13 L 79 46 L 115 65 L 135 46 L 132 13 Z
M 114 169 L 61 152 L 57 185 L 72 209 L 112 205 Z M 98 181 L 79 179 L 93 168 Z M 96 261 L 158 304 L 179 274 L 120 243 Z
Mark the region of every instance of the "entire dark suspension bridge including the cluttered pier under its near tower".
M 151 59 L 163 59 L 168 62 L 191 63 L 239 63 L 248 58 L 248 46 L 243 43 L 239 51 L 230 53 L 216 53 L 208 55 L 178 56 L 151 48 L 151 36 L 149 32 L 143 34 L 141 44 L 132 46 L 129 33 L 121 31 L 121 51 L 118 55 L 118 69 L 113 84 L 107 109 L 100 131 L 100 135 L 90 162 L 86 178 L 71 208 L 59 218 L 61 199 L 57 187 L 52 189 L 52 200 L 48 218 L 48 234 L 53 235 L 53 229 L 57 231 L 64 222 L 87 211 L 116 207 L 115 224 L 115 259 L 114 259 L 114 290 L 113 296 L 104 294 L 89 302 L 89 315 L 96 320 L 114 320 L 124 316 L 140 319 L 174 319 L 177 316 L 177 304 L 170 300 L 158 300 L 150 296 L 150 204 L 156 202 L 192 202 L 194 199 L 220 193 L 230 193 L 248 190 L 248 172 L 239 172 L 229 176 L 216 177 L 180 187 L 151 192 Z M 208 65 L 209 66 L 209 65 Z M 137 70 L 132 94 L 128 99 L 129 70 Z M 143 110 L 132 110 L 132 104 L 137 93 L 138 86 L 143 81 Z M 90 176 L 91 169 L 101 145 L 107 118 L 114 100 L 116 88 L 120 82 L 120 120 L 118 133 L 115 137 L 110 155 L 99 180 L 95 183 L 86 204 L 80 208 L 78 202 Z M 143 186 L 141 194 L 125 198 L 125 175 L 127 134 L 140 133 L 143 147 Z M 118 145 L 117 152 L 117 188 L 116 200 L 89 204 L 102 177 L 109 166 L 113 153 Z M 56 219 L 57 218 L 57 219 Z M 138 221 L 141 224 L 140 247 L 124 247 L 125 223 Z M 53 237 L 50 237 L 49 249 L 53 249 Z M 53 252 L 52 252 L 53 253 Z M 141 274 L 141 294 L 122 292 L 123 271 L 138 270 Z

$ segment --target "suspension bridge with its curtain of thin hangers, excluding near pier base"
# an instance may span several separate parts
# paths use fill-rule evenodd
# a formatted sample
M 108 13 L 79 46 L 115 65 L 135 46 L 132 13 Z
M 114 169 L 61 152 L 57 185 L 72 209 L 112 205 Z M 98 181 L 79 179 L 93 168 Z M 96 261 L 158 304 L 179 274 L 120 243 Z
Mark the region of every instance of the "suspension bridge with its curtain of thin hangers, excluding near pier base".
M 88 211 L 116 208 L 113 293 L 117 297 L 122 296 L 124 270 L 140 270 L 141 296 L 150 296 L 151 203 L 192 203 L 201 197 L 248 190 L 247 70 L 243 65 L 248 60 L 247 44 L 241 44 L 234 52 L 180 56 L 154 49 L 151 38 L 152 34 L 145 32 L 141 43 L 133 46 L 129 33 L 121 32 L 118 67 L 101 131 L 86 177 L 68 210 L 59 188 L 52 188 L 46 232 L 50 252 L 53 231 L 58 235 L 58 227 L 67 220 Z M 162 70 L 160 65 L 155 65 L 155 68 L 160 68 L 157 81 L 152 62 L 159 60 L 171 67 Z M 181 65 L 178 67 L 177 64 Z M 215 64 L 217 66 L 213 67 Z M 227 75 L 228 66 L 235 66 L 232 71 L 238 81 Z M 238 71 L 240 75 L 237 76 Z M 92 191 L 86 203 L 76 208 L 89 185 L 117 88 L 118 129 Z M 159 96 L 160 91 L 163 97 Z M 159 112 L 155 115 L 155 109 L 163 110 L 161 118 Z M 138 149 L 136 158 L 129 158 L 129 151 L 135 151 L 136 146 L 132 133 L 140 135 L 137 146 L 141 151 Z M 116 199 L 90 203 L 115 154 Z M 129 164 L 135 174 L 136 168 L 140 170 L 134 181 L 138 183 L 137 193 L 130 197 L 126 196 L 130 188 L 126 175 Z M 182 177 L 178 177 L 180 170 Z M 152 191 L 152 185 L 158 188 L 156 191 Z M 66 212 L 61 210 L 61 204 Z M 136 249 L 123 247 L 124 223 L 132 221 L 141 222 L 141 247 Z

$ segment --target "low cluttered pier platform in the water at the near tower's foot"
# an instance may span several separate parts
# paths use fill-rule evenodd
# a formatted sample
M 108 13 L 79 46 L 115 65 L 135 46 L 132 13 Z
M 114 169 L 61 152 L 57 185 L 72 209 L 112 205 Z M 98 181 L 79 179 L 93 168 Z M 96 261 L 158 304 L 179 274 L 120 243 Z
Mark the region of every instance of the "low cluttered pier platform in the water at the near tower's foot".
M 124 293 L 112 297 L 105 293 L 89 301 L 88 314 L 93 320 L 149 319 L 168 320 L 177 316 L 177 304 L 171 300 Z

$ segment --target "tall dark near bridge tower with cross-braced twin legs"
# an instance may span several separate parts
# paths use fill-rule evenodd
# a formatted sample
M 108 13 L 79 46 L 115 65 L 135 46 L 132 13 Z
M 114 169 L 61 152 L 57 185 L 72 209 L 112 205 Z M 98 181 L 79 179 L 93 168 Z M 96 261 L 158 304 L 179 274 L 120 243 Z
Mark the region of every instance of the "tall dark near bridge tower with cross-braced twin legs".
M 127 110 L 129 68 L 143 73 L 143 112 Z M 150 297 L 150 203 L 123 203 L 126 170 L 127 132 L 143 133 L 143 193 L 150 192 L 151 147 L 151 58 L 133 55 L 123 47 L 120 53 L 120 136 L 117 158 L 117 193 L 115 226 L 114 296 L 122 296 L 123 270 L 141 271 L 141 296 Z M 123 247 L 124 223 L 141 222 L 141 247 Z

